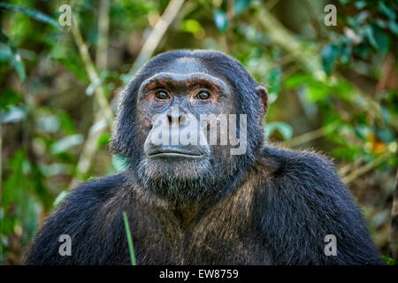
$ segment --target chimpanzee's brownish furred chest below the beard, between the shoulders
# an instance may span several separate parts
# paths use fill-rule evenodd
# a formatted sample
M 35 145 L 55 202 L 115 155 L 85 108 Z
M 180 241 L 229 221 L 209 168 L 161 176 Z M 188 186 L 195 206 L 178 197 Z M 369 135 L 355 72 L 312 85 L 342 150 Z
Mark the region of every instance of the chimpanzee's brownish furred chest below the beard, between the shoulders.
M 271 264 L 246 213 L 215 207 L 184 224 L 171 211 L 147 212 L 135 220 L 137 264 Z

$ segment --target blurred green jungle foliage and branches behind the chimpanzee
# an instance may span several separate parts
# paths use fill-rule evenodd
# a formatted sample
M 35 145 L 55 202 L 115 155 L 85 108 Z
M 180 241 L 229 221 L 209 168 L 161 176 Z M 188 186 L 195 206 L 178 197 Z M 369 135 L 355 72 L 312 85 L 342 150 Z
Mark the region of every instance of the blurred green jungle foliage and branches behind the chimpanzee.
M 118 94 L 175 49 L 240 60 L 269 90 L 266 139 L 332 157 L 396 264 L 397 44 L 396 1 L 1 2 L 0 264 L 21 263 L 70 187 L 123 170 L 108 149 Z

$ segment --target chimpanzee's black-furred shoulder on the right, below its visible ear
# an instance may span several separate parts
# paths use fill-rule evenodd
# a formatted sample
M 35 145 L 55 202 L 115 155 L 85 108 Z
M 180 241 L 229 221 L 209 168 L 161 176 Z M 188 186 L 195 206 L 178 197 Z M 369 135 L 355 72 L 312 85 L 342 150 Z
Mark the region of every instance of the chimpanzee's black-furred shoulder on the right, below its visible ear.
M 382 264 L 332 161 L 274 145 L 264 148 L 260 160 L 267 176 L 256 195 L 256 220 L 273 264 Z M 325 236 L 331 234 L 337 256 L 325 256 Z

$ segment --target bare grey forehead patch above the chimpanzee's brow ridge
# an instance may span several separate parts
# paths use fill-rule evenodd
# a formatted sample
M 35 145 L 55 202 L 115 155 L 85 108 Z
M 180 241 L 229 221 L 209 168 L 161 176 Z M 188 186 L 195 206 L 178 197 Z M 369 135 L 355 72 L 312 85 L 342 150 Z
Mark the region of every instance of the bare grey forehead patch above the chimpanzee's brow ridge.
M 180 57 L 172 60 L 162 68 L 165 73 L 208 73 L 210 70 L 206 65 L 203 65 L 197 58 Z

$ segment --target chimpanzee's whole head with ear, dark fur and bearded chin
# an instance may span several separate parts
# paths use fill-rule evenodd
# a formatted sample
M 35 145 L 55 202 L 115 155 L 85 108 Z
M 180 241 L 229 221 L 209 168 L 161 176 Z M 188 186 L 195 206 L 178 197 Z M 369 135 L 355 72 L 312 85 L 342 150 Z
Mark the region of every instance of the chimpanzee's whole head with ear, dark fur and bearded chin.
M 253 164 L 267 108 L 265 88 L 233 57 L 166 52 L 126 87 L 112 149 L 143 187 L 175 202 L 201 200 Z

